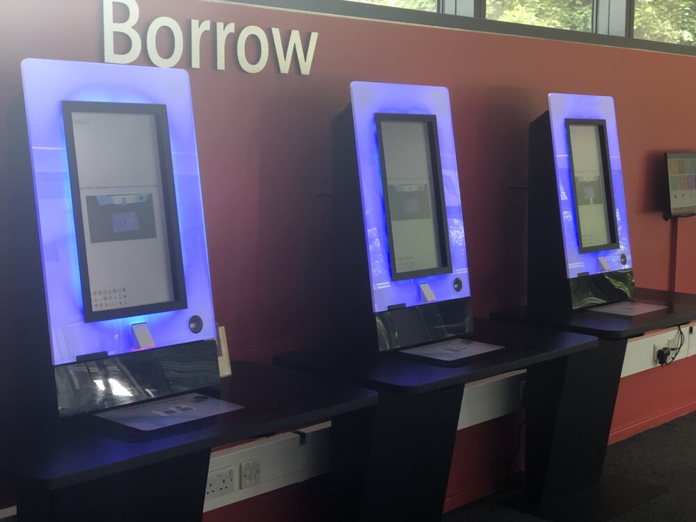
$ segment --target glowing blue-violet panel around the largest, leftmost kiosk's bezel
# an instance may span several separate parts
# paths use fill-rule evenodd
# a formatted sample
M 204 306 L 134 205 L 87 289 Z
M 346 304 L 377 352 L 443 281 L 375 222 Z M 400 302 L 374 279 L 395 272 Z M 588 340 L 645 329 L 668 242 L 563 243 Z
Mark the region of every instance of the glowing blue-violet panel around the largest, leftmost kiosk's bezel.
M 134 351 L 131 325 L 146 322 L 157 347 L 214 339 L 203 202 L 191 87 L 184 70 L 26 59 L 22 82 L 38 212 L 54 365 L 84 354 Z M 63 101 L 164 104 L 167 107 L 188 308 L 86 323 L 72 213 Z M 203 331 L 189 329 L 189 317 Z

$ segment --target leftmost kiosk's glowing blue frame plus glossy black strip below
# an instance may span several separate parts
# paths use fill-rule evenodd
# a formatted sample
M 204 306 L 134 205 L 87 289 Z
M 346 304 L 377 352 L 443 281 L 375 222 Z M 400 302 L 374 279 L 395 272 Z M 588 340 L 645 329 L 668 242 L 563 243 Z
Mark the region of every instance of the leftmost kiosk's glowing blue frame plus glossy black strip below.
M 59 415 L 215 386 L 216 326 L 188 73 L 28 58 L 22 62 L 22 84 L 48 319 L 42 345 L 52 354 Z M 166 110 L 185 308 L 86 318 L 63 102 L 159 105 Z M 154 346 L 136 339 L 132 327 L 143 323 Z M 104 383 L 111 379 L 125 391 L 119 395 L 112 389 L 105 396 Z

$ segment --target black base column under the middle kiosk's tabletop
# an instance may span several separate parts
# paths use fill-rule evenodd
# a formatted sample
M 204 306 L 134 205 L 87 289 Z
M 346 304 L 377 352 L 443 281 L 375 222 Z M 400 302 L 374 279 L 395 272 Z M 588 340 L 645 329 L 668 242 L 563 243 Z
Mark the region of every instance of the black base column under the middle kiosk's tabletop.
M 441 521 L 463 393 L 464 385 L 418 395 L 381 392 L 369 420 L 334 420 L 340 476 L 351 477 L 341 481 L 342 488 L 354 484 L 358 492 L 352 498 L 341 492 L 345 502 L 338 500 L 343 517 L 338 519 Z M 358 445 L 365 448 L 362 456 Z

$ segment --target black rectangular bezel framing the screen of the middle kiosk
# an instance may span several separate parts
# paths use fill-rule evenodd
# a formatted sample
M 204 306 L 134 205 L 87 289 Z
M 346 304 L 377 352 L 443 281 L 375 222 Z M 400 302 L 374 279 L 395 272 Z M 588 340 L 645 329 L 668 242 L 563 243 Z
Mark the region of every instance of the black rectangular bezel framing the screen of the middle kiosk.
M 374 121 L 377 125 L 377 141 L 379 142 L 379 164 L 381 169 L 382 195 L 384 198 L 384 212 L 386 214 L 387 232 L 389 237 L 389 262 L 392 280 L 406 280 L 418 277 L 440 276 L 452 273 L 452 254 L 450 251 L 450 233 L 447 225 L 447 209 L 445 208 L 445 191 L 443 187 L 442 164 L 440 159 L 440 142 L 438 139 L 437 116 L 434 114 L 400 114 L 400 113 L 375 113 Z M 384 155 L 384 142 L 382 136 L 383 122 L 418 122 L 425 123 L 428 129 L 430 161 L 432 163 L 432 181 L 435 200 L 434 216 L 437 224 L 437 235 L 440 246 L 441 266 L 432 269 L 398 272 L 394 253 L 394 239 L 392 235 L 392 221 L 389 205 L 388 179 L 386 161 Z

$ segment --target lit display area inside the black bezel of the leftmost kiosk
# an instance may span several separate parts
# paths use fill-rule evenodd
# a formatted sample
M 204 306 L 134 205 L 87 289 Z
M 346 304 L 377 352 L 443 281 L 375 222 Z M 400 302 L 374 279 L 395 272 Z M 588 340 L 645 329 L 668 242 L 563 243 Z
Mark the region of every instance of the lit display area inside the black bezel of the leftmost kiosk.
M 152 114 L 72 113 L 95 312 L 173 301 Z

